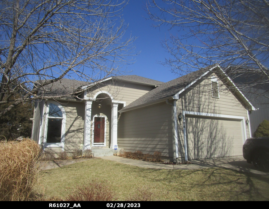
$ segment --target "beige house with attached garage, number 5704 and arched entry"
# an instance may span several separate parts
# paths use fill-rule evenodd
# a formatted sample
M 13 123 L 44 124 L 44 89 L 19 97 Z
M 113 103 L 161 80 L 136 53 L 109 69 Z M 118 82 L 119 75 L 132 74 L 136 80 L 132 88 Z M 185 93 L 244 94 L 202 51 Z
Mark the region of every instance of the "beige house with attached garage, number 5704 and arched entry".
M 220 66 L 167 83 L 140 76 L 98 83 L 63 79 L 46 95 L 70 89 L 72 98 L 36 101 L 32 137 L 45 150 L 90 148 L 106 155 L 117 146 L 143 154 L 159 151 L 176 162 L 242 155 L 250 137 L 248 114 L 255 108 Z

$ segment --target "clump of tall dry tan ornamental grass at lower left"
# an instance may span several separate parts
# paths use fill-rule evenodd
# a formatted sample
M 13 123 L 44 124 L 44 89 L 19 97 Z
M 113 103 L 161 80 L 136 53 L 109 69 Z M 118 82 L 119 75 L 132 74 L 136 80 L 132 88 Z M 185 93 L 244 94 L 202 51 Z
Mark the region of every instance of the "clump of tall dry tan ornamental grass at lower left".
M 36 162 L 39 152 L 39 145 L 30 139 L 0 142 L 0 200 L 29 199 L 37 181 Z

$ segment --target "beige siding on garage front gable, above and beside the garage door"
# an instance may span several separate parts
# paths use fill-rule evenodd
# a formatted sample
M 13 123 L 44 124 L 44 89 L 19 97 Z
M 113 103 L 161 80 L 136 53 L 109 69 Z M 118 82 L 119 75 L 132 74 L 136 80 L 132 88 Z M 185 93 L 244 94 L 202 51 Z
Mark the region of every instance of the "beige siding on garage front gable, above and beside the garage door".
M 179 96 L 177 104 L 177 114 L 184 111 L 212 113 L 221 115 L 234 115 L 244 117 L 247 119 L 247 111 L 244 104 L 241 104 L 236 96 L 227 90 L 221 81 L 219 84 L 219 98 L 212 97 L 211 80 L 205 79 L 196 83 L 192 88 L 183 92 Z M 178 122 L 178 136 L 179 136 L 179 155 L 184 157 L 184 136 L 183 124 Z M 246 127 L 247 137 L 249 137 L 249 130 Z M 243 141 L 241 145 L 243 146 Z M 241 154 L 242 155 L 242 154 Z

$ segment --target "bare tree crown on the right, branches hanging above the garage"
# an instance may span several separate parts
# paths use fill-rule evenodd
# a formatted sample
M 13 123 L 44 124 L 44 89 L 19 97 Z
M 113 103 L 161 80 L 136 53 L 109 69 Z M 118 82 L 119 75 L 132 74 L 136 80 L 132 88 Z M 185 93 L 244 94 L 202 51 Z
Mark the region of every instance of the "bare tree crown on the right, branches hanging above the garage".
M 267 0 L 153 0 L 147 10 L 155 27 L 170 26 L 170 37 L 162 45 L 171 58 L 162 64 L 172 72 L 184 75 L 220 64 L 233 78 L 248 77 L 240 83 L 243 89 L 263 85 L 268 94 Z

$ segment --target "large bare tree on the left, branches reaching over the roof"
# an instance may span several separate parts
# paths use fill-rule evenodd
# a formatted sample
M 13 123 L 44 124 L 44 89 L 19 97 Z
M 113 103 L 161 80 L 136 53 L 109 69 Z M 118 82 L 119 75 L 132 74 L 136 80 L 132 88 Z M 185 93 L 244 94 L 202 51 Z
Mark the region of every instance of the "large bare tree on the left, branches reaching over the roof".
M 130 63 L 132 37 L 114 0 L 0 1 L 0 117 L 25 101 L 50 98 L 63 78 L 95 82 Z M 66 88 L 72 88 L 67 86 Z M 69 91 L 70 92 L 70 91 Z M 70 93 L 61 96 L 72 96 Z

